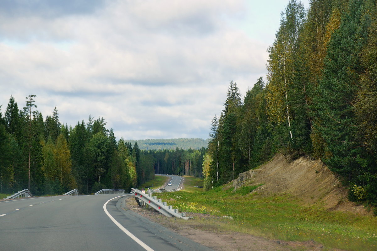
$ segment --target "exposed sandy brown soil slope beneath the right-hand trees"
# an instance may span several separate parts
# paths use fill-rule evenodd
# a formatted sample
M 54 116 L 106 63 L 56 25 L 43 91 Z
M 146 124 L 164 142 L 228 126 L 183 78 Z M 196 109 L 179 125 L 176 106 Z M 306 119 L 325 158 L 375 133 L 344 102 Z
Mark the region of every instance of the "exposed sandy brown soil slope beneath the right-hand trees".
M 258 169 L 240 173 L 231 186 L 264 184 L 256 192 L 265 194 L 288 193 L 307 204 L 319 203 L 329 210 L 349 211 L 357 214 L 372 214 L 363 205 L 348 201 L 348 190 L 337 176 L 319 160 L 300 157 L 290 161 L 277 154 Z

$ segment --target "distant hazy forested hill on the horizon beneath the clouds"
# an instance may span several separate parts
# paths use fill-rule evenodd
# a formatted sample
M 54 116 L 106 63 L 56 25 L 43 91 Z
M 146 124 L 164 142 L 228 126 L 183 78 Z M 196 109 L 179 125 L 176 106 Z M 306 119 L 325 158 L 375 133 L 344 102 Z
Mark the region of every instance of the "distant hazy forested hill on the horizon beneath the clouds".
M 162 138 L 126 141 L 132 143 L 132 145 L 137 141 L 141 150 L 175 150 L 177 147 L 179 149 L 201 149 L 208 146 L 208 139 L 204 140 L 202 138 Z

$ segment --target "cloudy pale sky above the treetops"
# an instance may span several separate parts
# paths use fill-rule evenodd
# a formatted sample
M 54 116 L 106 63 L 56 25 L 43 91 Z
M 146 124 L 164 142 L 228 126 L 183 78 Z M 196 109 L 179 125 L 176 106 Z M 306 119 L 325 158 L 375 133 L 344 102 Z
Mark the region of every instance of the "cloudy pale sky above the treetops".
M 309 0 L 301 1 L 305 9 Z M 0 105 L 35 94 L 74 127 L 116 138 L 208 138 L 230 81 L 267 74 L 288 0 L 2 0 Z

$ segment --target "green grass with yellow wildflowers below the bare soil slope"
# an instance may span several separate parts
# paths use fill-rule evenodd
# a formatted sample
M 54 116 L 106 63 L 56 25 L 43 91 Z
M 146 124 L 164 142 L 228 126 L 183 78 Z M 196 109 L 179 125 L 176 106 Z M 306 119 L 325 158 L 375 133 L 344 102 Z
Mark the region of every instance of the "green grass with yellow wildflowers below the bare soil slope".
M 186 181 L 186 178 L 185 178 Z M 159 198 L 179 211 L 219 216 L 200 219 L 198 225 L 211 230 L 236 231 L 280 240 L 315 240 L 325 248 L 352 251 L 377 250 L 377 218 L 327 211 L 304 206 L 291 195 L 264 196 L 250 193 L 254 187 L 208 192 L 161 193 Z M 232 216 L 232 219 L 224 216 Z M 203 222 L 204 221 L 204 222 Z

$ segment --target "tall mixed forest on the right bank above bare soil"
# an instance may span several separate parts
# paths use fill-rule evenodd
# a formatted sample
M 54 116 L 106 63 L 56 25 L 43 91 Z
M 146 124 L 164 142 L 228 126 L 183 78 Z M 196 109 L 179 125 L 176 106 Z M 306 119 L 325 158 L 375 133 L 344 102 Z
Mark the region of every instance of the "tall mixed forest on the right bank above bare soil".
M 280 152 L 321 159 L 349 199 L 377 205 L 377 3 L 291 0 L 268 48 L 267 79 L 230 82 L 213 118 L 203 176 L 228 183 Z

